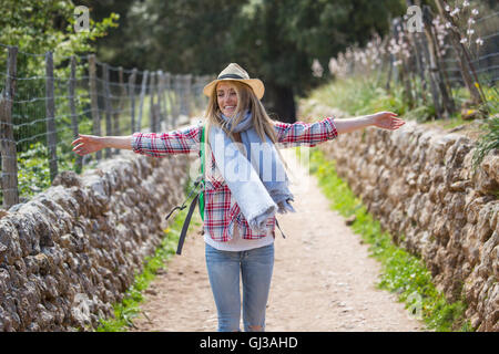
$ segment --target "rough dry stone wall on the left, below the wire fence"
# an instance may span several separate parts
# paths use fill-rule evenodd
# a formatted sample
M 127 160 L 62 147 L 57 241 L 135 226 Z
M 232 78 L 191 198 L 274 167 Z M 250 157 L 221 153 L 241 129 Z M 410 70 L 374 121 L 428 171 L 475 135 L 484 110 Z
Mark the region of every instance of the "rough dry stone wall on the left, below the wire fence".
M 122 152 L 0 210 L 0 332 L 92 329 L 112 316 L 182 202 L 186 167 L 185 156 Z

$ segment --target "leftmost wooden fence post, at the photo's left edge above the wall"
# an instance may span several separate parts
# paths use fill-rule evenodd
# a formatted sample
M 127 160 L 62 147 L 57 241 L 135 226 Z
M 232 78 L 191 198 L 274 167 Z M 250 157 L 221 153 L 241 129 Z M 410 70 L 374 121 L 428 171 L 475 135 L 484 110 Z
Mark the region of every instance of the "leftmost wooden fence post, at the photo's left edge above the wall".
M 19 202 L 18 157 L 12 128 L 12 103 L 17 86 L 18 48 L 9 46 L 6 90 L 0 96 L 0 152 L 2 162 L 2 207 L 9 209 Z

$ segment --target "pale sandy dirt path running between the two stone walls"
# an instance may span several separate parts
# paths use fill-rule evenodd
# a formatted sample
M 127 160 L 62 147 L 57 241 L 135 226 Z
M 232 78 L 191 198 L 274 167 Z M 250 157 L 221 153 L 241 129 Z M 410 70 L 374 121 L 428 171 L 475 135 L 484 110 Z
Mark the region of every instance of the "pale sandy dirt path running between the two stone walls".
M 317 187 L 283 150 L 297 214 L 279 216 L 266 331 L 425 331 L 396 295 L 377 290 L 380 264 Z M 298 184 L 299 181 L 299 184 Z M 198 230 L 198 229 L 197 229 Z M 197 231 L 196 230 L 196 231 Z M 216 331 L 216 309 L 204 262 L 204 242 L 187 236 L 182 256 L 151 284 L 135 331 Z

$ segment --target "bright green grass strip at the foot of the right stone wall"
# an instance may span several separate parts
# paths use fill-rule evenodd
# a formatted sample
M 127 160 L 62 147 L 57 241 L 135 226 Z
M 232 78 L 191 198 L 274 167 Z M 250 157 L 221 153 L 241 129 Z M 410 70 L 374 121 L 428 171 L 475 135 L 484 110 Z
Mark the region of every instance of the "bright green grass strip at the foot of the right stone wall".
M 473 331 L 469 321 L 464 320 L 465 302 L 447 302 L 431 282 L 431 274 L 422 260 L 391 241 L 390 235 L 381 230 L 379 221 L 373 218 L 361 200 L 338 177 L 335 162 L 327 160 L 317 148 L 310 149 L 310 173 L 317 177 L 322 191 L 332 200 L 333 209 L 344 217 L 356 216 L 352 229 L 369 244 L 371 257 L 383 266 L 377 284 L 379 289 L 397 293 L 409 313 L 422 320 L 429 330 Z

